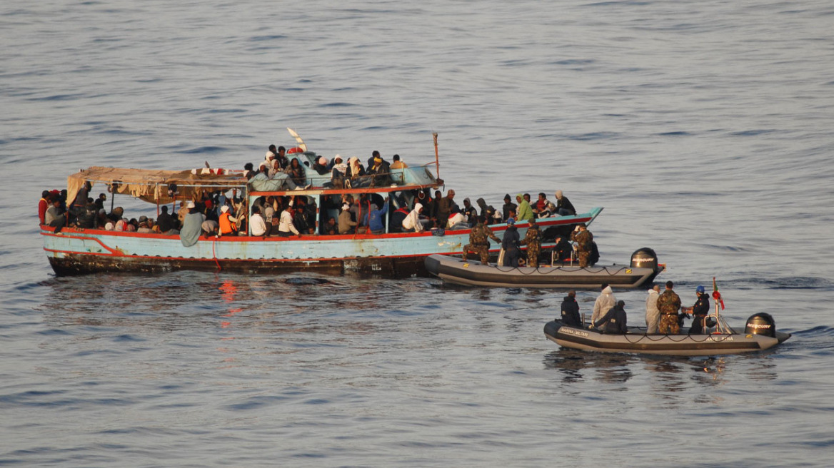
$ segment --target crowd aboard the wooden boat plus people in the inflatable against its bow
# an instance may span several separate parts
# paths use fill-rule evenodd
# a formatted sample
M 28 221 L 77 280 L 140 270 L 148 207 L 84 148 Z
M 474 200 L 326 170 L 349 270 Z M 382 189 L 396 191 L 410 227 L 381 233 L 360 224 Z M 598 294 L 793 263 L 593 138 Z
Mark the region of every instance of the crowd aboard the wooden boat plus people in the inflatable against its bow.
M 313 185 L 320 188 L 368 187 L 368 192 L 323 195 L 317 205 L 317 197 L 298 195 L 259 197 L 251 207 L 229 189 L 202 192 L 199 197 L 179 200 L 178 208 L 159 205 L 156 219 L 148 216 L 128 217 L 123 207 L 111 207 L 105 202 L 107 193 L 98 198 L 90 195 L 92 186 L 86 182 L 73 202 L 67 201 L 67 191 L 44 191 L 38 208 L 41 225 L 49 227 L 78 227 L 103 229 L 115 232 L 155 233 L 181 236 L 183 245 L 193 245 L 200 236 L 303 236 L 303 235 L 356 235 L 382 234 L 385 232 L 432 232 L 442 235 L 445 230 L 472 229 L 466 253 L 488 261 L 489 240 L 500 242 L 504 266 L 538 266 L 540 261 L 565 262 L 575 259 L 580 266 L 593 265 L 598 258 L 593 236 L 584 225 L 574 232 L 564 228 L 550 228 L 543 232 L 537 219 L 576 214 L 575 207 L 562 191 L 554 193 L 555 201 L 548 200 L 540 192 L 533 200 L 530 193 L 506 194 L 499 209 L 478 198 L 475 205 L 470 198 L 458 203 L 455 190 L 444 195 L 428 188 L 386 191 L 389 196 L 375 193 L 373 187 L 397 187 L 402 177 L 396 171 L 408 167 L 394 155 L 387 162 L 379 151 L 371 153 L 364 166 L 358 157 L 345 161 L 339 155 L 332 159 L 316 157 L 312 165 L 300 162 L 301 148 L 270 145 L 264 161 L 257 168 L 252 163 L 244 166 L 242 176 L 249 182 L 269 181 L 275 190 L 264 192 L 295 191 Z M 314 172 L 313 175 L 309 172 Z M 401 172 L 401 171 L 400 171 Z M 317 183 L 312 183 L 312 182 Z M 384 192 L 383 192 L 384 193 Z M 176 195 L 176 188 L 169 192 Z M 515 227 L 517 222 L 529 223 L 524 238 Z M 491 231 L 490 225 L 506 224 L 503 239 Z M 544 240 L 555 247 L 542 252 Z M 575 242 L 575 246 L 572 242 Z M 521 247 L 525 246 L 525 249 Z

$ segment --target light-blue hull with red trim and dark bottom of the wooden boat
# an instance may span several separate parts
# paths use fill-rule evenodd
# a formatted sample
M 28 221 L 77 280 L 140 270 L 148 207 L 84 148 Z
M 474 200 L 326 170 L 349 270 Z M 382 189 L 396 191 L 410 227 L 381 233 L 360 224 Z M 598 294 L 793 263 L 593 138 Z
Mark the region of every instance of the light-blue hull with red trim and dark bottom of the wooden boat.
M 576 217 L 554 217 L 545 226 L 591 222 L 601 212 Z M 502 236 L 504 228 L 495 227 Z M 520 231 L 526 227 L 520 227 Z M 469 229 L 430 232 L 359 234 L 349 236 L 200 237 L 183 246 L 179 236 L 43 227 L 44 250 L 58 275 L 103 271 L 159 272 L 175 270 L 284 273 L 317 271 L 326 274 L 356 272 L 363 276 L 428 276 L 424 259 L 435 253 L 455 254 L 469 242 Z

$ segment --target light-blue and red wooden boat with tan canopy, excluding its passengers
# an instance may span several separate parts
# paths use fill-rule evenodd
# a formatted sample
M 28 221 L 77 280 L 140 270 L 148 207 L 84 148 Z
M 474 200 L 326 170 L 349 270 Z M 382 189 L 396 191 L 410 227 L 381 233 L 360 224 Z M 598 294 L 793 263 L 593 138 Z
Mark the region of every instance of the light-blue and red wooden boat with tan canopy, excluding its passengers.
M 294 134 L 294 132 L 291 132 Z M 296 137 L 294 135 L 294 137 Z M 319 176 L 310 169 L 318 158 L 302 143 L 290 150 L 287 157 L 304 164 L 309 187 L 300 190 L 274 190 L 266 184 L 254 184 L 242 172 L 211 169 L 190 171 L 156 171 L 113 167 L 90 167 L 68 177 L 68 200 L 73 200 L 84 182 L 95 187 L 108 187 L 111 197 L 129 196 L 156 205 L 182 200 L 199 200 L 205 193 L 240 194 L 246 201 L 245 217 L 259 197 L 305 197 L 317 206 L 313 234 L 300 237 L 263 237 L 243 232 L 240 236 L 200 236 L 193 246 L 183 246 L 178 235 L 114 232 L 103 229 L 41 226 L 46 251 L 58 275 L 98 271 L 242 271 L 287 272 L 319 271 L 328 274 L 357 272 L 371 276 L 426 276 L 424 259 L 432 254 L 460 254 L 469 242 L 470 229 L 446 230 L 444 235 L 432 232 L 399 232 L 390 223 L 390 214 L 399 207 L 411 207 L 418 192 L 427 192 L 444 185 L 437 177 L 439 159 L 435 134 L 435 162 L 425 166 L 391 170 L 393 182 L 384 187 L 326 187 L 329 176 Z M 435 174 L 430 167 L 435 165 Z M 229 193 L 231 192 L 231 195 Z M 377 200 L 389 197 L 385 232 L 382 234 L 325 235 L 324 222 L 338 217 L 338 201 L 343 194 L 359 197 L 367 194 Z M 111 201 L 112 203 L 112 201 Z M 336 203 L 339 206 L 339 203 Z M 602 208 L 570 217 L 548 217 L 538 220 L 542 229 L 564 228 L 592 222 Z M 173 210 L 172 214 L 175 214 Z M 249 225 L 248 222 L 245 223 Z M 517 225 L 525 235 L 523 223 Z M 493 227 L 502 236 L 505 226 Z M 437 234 L 438 232 L 435 232 Z

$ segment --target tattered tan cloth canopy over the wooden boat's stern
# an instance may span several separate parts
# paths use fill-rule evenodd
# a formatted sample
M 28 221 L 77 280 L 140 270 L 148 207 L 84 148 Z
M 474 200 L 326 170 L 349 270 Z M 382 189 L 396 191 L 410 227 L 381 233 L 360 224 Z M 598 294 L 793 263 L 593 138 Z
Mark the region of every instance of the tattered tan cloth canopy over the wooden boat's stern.
M 92 185 L 97 182 L 107 184 L 110 192 L 131 195 L 150 203 L 173 201 L 173 197 L 168 194 L 171 184 L 176 184 L 176 197 L 180 200 L 200 197 L 206 190 L 238 188 L 244 191 L 246 188 L 246 179 L 239 171 L 208 168 L 161 171 L 94 166 L 67 177 L 67 200 L 75 199 L 84 182 Z

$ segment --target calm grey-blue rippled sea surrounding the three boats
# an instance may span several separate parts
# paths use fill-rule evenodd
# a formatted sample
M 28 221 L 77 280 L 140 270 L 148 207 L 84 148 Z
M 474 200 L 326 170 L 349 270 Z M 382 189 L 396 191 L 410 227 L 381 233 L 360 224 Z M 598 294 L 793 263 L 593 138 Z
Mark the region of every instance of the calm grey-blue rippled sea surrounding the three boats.
M 831 466 L 831 2 L 3 2 L 0 40 L 0 466 Z M 651 246 L 793 337 L 602 356 L 545 340 L 564 291 L 54 276 L 43 189 L 285 127 L 412 165 L 438 132 L 459 198 L 605 207 L 602 262 Z

